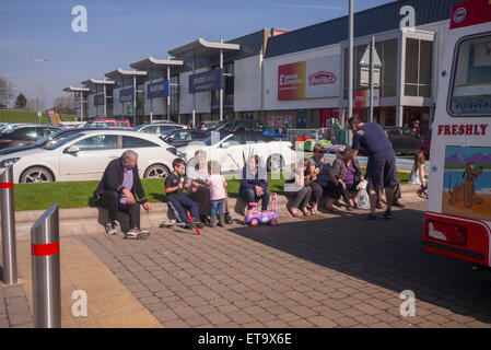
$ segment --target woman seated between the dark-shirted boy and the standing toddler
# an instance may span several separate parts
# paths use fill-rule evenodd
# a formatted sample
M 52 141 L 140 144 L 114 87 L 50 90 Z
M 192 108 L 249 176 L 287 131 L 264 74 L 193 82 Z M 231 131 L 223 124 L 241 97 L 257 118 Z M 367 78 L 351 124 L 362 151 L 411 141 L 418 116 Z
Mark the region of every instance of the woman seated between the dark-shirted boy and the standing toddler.
M 208 161 L 207 153 L 204 151 L 198 150 L 195 153 L 196 163 L 188 164 L 188 168 L 186 170 L 187 175 L 190 179 L 192 179 L 191 187 L 191 199 L 198 205 L 199 215 L 202 223 L 209 223 L 210 220 L 208 217 L 211 217 L 211 199 L 210 199 L 210 189 L 207 186 L 207 179 L 209 176 L 208 173 Z M 224 203 L 224 213 L 225 213 L 225 223 L 232 223 L 232 218 L 229 211 L 229 195 L 226 194 L 225 203 Z

